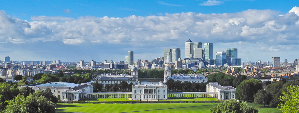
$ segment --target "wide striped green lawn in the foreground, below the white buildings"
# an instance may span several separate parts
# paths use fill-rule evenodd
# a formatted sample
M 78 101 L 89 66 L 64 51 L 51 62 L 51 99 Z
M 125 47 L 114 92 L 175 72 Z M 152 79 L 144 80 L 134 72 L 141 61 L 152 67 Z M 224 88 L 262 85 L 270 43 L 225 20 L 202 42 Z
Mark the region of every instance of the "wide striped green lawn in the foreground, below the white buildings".
M 136 104 L 57 104 L 58 113 L 209 113 L 212 106 L 218 103 L 136 103 Z M 259 109 L 259 113 L 281 113 L 277 108 L 263 108 L 249 103 Z

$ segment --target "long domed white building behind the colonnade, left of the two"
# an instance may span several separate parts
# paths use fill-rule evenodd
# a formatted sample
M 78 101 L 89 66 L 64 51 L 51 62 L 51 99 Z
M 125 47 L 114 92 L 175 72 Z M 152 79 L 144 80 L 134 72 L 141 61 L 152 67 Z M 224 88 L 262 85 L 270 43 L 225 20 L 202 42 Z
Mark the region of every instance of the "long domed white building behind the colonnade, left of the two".
M 93 79 L 94 82 L 103 84 L 105 87 L 106 84 L 115 84 L 120 83 L 121 81 L 126 81 L 128 84 L 136 84 L 138 81 L 138 69 L 134 66 L 131 69 L 131 75 L 120 74 L 120 75 L 103 75 L 97 76 Z

